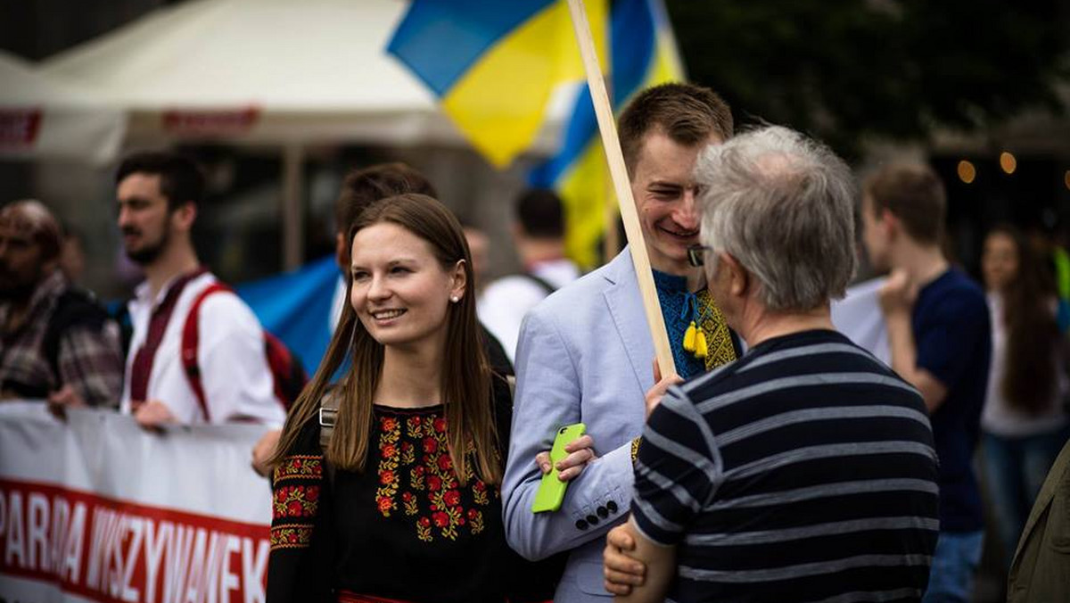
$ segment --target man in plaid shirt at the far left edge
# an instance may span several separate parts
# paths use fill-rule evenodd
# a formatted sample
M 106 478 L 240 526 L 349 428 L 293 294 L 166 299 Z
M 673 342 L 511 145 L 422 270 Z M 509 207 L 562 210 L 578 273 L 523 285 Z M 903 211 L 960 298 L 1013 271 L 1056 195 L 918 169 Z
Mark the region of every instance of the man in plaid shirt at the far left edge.
M 0 210 L 0 400 L 118 406 L 119 330 L 59 270 L 63 235 L 40 201 Z

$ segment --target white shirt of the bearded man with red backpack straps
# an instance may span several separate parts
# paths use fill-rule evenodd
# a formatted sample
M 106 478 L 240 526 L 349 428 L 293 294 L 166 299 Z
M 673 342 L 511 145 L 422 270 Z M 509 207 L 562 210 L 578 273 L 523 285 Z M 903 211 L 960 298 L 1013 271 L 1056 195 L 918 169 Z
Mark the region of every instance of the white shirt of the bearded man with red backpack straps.
M 174 304 L 153 359 L 147 398 L 158 400 L 184 424 L 225 423 L 231 419 L 258 420 L 281 426 L 286 410 L 275 397 L 274 382 L 264 355 L 263 329 L 245 302 L 229 291 L 213 293 L 201 303 L 198 316 L 197 365 L 210 417 L 205 417 L 182 365 L 182 328 L 194 300 L 216 282 L 205 272 L 192 280 Z M 152 308 L 164 301 L 174 280 L 149 299 L 142 283 L 129 302 L 134 334 L 126 359 L 121 410 L 131 412 L 131 376 L 137 350 L 144 345 Z

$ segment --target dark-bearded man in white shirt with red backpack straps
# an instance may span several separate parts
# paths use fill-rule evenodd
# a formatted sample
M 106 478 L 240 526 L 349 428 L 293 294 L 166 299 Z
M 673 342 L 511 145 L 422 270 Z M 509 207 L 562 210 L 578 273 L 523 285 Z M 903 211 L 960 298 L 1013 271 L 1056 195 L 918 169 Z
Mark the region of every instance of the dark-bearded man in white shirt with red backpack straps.
M 281 425 L 253 311 L 200 265 L 190 240 L 204 177 L 166 152 L 127 157 L 116 176 L 126 255 L 146 282 L 129 303 L 134 334 L 121 409 L 143 426 L 257 421 Z M 185 344 L 194 342 L 190 348 Z

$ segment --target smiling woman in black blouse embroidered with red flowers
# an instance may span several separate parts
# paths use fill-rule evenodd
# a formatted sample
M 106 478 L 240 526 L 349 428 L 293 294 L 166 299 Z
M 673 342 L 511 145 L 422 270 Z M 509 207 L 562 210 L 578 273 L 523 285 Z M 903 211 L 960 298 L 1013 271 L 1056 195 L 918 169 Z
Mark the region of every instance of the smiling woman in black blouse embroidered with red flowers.
M 460 224 L 399 195 L 348 240 L 350 303 L 272 459 L 269 601 L 537 598 L 505 543 L 511 402 L 482 349 Z

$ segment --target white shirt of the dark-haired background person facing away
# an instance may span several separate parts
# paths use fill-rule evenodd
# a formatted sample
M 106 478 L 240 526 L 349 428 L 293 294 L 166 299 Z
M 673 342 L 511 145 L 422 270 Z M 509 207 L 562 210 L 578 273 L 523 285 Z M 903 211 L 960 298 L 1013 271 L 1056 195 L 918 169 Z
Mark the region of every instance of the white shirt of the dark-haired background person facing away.
M 541 261 L 532 267 L 531 273 L 560 289 L 580 275 L 580 269 L 567 259 Z M 522 274 L 494 281 L 484 289 L 476 305 L 479 321 L 493 334 L 509 362 L 516 362 L 520 323 L 528 311 L 547 298 L 545 287 Z

